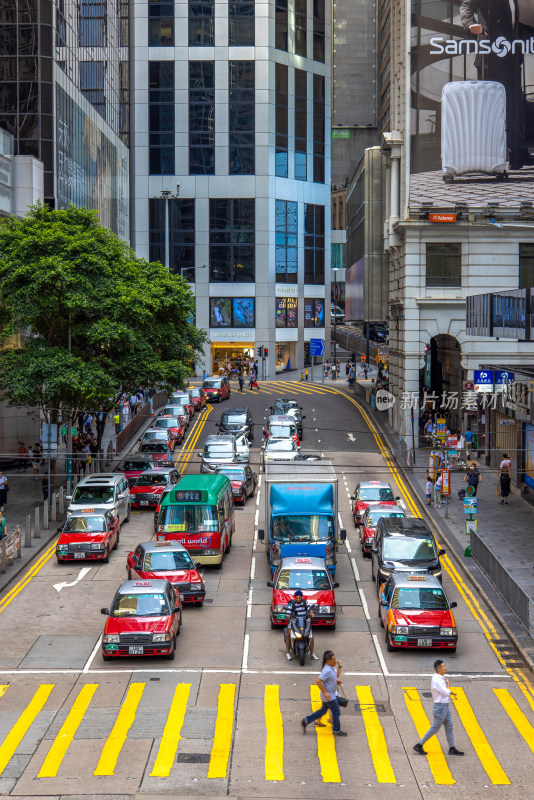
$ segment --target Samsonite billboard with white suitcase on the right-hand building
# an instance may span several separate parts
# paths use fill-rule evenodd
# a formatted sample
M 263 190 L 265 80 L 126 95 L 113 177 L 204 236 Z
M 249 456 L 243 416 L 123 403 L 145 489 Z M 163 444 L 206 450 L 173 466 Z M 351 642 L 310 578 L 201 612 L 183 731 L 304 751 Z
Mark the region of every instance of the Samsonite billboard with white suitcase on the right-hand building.
M 532 195 L 534 0 L 412 10 L 410 202 Z

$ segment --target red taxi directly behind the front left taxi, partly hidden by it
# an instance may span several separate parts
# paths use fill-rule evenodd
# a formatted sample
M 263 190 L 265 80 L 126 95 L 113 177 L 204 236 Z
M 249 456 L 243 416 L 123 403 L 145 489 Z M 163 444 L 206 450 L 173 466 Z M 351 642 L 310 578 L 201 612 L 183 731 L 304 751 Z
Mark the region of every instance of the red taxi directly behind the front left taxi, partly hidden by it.
M 126 561 L 128 580 L 162 578 L 172 583 L 182 603 L 202 606 L 206 589 L 197 567 L 179 542 L 141 542 Z

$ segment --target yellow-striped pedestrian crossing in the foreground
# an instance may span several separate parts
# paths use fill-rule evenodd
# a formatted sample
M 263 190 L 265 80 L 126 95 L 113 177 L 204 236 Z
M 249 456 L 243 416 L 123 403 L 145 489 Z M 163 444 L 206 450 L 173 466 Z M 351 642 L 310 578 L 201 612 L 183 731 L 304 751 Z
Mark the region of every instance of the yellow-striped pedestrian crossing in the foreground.
M 84 764 L 84 769 L 90 771 L 89 774 L 99 778 L 111 778 L 116 774 L 121 759 L 124 762 L 128 756 L 125 751 L 127 741 L 132 744 L 129 736 L 134 723 L 143 723 L 143 717 L 153 708 L 143 707 L 144 694 L 147 684 L 142 682 L 130 683 L 123 697 L 122 702 L 115 712 L 115 706 L 109 711 L 116 713 L 112 723 L 111 731 L 98 730 L 92 733 L 92 739 L 98 741 L 99 755 L 95 759 L 96 763 Z M 176 776 L 181 765 L 178 759 L 180 753 L 188 752 L 188 738 L 191 736 L 182 735 L 184 725 L 187 722 L 188 714 L 194 714 L 195 706 L 192 705 L 194 694 L 192 684 L 178 683 L 176 686 L 169 687 L 172 694 L 169 707 L 161 708 L 161 729 L 150 734 L 150 739 L 154 741 L 154 761 L 148 775 L 154 778 L 165 779 Z M 510 749 L 498 754 L 497 749 L 504 743 L 506 732 L 508 742 L 513 738 L 514 747 L 512 760 L 516 758 L 516 753 L 523 752 L 525 755 L 525 769 L 532 769 L 528 764 L 529 754 L 534 754 L 534 727 L 527 718 L 527 714 L 520 707 L 518 698 L 513 696 L 517 691 L 515 687 L 511 689 L 499 686 L 493 690 L 487 686 L 481 692 L 480 686 L 473 688 L 473 685 L 466 690 L 462 687 L 452 687 L 456 696 L 453 698 L 454 711 L 453 720 L 455 733 L 464 744 L 466 755 L 471 756 L 470 770 L 476 770 L 475 761 L 478 761 L 479 772 L 482 779 L 487 784 L 495 786 L 508 786 L 511 783 L 510 775 L 517 774 L 517 764 L 510 763 Z M 84 739 L 83 733 L 80 734 L 80 726 L 84 718 L 93 709 L 93 704 L 99 699 L 99 692 L 104 690 L 98 683 L 86 683 L 79 689 L 73 690 L 74 699 L 70 707 L 62 709 L 62 714 L 66 714 L 61 727 L 54 736 L 42 737 L 46 746 L 39 753 L 44 753 L 42 763 L 31 762 L 31 769 L 34 773 L 30 774 L 31 779 L 55 779 L 61 778 L 62 765 L 66 759 L 69 749 L 73 746 L 75 739 Z M 53 717 L 59 713 L 54 692 L 61 689 L 54 683 L 39 685 L 29 702 L 24 708 L 20 709 L 18 718 L 7 731 L 5 738 L 0 743 L 0 778 L 9 769 L 13 759 L 20 753 L 28 752 L 28 737 L 32 726 L 39 725 L 42 728 L 43 719 L 49 720 L 49 727 L 52 731 L 56 728 L 52 725 Z M 288 711 L 288 698 L 281 698 L 280 686 L 268 684 L 263 687 L 263 697 L 261 697 L 261 687 L 258 689 L 263 708 L 263 715 L 257 720 L 258 731 L 262 735 L 264 747 L 263 759 L 263 778 L 266 781 L 286 780 L 286 746 L 287 751 L 294 750 L 295 737 L 300 734 L 300 718 L 309 713 L 305 697 L 302 703 L 298 702 L 298 711 L 295 713 L 295 703 L 293 701 L 292 711 Z M 376 691 L 376 690 L 375 690 Z M 373 694 L 373 689 L 368 685 L 355 685 L 347 687 L 347 697 L 349 706 L 343 709 L 342 719 L 343 728 L 348 731 L 346 739 L 338 740 L 334 737 L 329 715 L 322 719 L 323 727 L 310 726 L 315 729 L 315 741 L 308 736 L 308 741 L 314 741 L 310 748 L 310 759 L 316 759 L 316 764 L 320 771 L 324 783 L 339 784 L 344 781 L 343 769 L 346 768 L 347 753 L 355 747 L 355 742 L 359 739 L 366 741 L 367 754 L 361 749 L 353 753 L 357 757 L 358 764 L 363 765 L 366 758 L 372 765 L 374 775 L 371 779 L 379 784 L 397 784 L 400 780 L 399 774 L 404 770 L 400 762 L 406 757 L 412 758 L 412 745 L 420 738 L 430 726 L 429 715 L 431 716 L 431 700 L 426 699 L 426 693 L 413 687 L 399 687 L 390 697 L 391 711 L 389 716 L 384 716 L 383 703 L 377 703 Z M 3 713 L 2 704 L 10 703 L 9 711 L 13 707 L 18 707 L 17 687 L 9 684 L 0 685 L 0 718 Z M 287 687 L 285 687 L 287 694 Z M 12 695 L 12 697 L 10 697 Z M 471 696 L 472 695 L 472 696 Z M 169 694 L 169 698 L 171 694 Z M 216 708 L 213 709 L 215 725 L 213 737 L 211 739 L 211 750 L 207 769 L 199 767 L 199 777 L 209 780 L 226 779 L 229 777 L 229 765 L 231 759 L 244 758 L 246 752 L 242 752 L 243 738 L 246 734 L 239 732 L 239 715 L 236 712 L 237 684 L 221 683 L 218 686 Z M 519 695 L 519 700 L 521 697 Z M 484 725 L 488 726 L 488 703 L 491 704 L 491 715 L 493 723 L 490 730 L 484 731 Z M 59 704 L 61 705 L 61 704 Z M 309 705 L 315 711 L 321 705 L 318 687 L 315 684 L 309 686 Z M 102 706 L 100 705 L 100 709 Z M 355 714 L 354 711 L 357 711 Z M 382 712 L 382 713 L 381 713 Z M 501 716 L 498 716 L 499 713 Z M 63 717 L 61 717 L 63 718 Z M 158 717 L 159 719 L 159 717 Z M 463 729 L 463 732 L 461 733 Z M 497 735 L 496 735 L 497 730 Z M 502 731 L 502 734 L 501 734 Z M 311 733 L 311 731 L 310 731 Z M 517 735 L 516 735 L 517 734 Z M 399 746 L 399 735 L 400 745 Z M 25 737 L 27 737 L 25 739 Z M 352 744 L 351 744 L 351 737 Z M 134 737 L 135 739 L 135 737 Z M 492 742 L 490 743 L 490 739 Z M 23 745 L 25 740 L 25 746 Z M 37 739 L 37 744 L 40 739 Z M 441 741 L 444 736 L 440 734 L 434 736 L 425 744 L 427 751 L 426 761 L 436 785 L 454 785 L 457 782 L 455 769 L 460 768 L 458 763 L 449 763 L 442 749 Z M 521 745 L 524 742 L 525 745 Z M 36 744 L 36 747 L 37 747 Z M 302 746 L 302 738 L 301 744 Z M 522 747 L 522 749 L 521 749 Z M 246 741 L 245 741 L 246 750 Z M 473 754 L 476 759 L 473 758 Z M 289 758 L 289 756 L 288 756 Z M 416 761 L 422 761 L 421 757 L 414 755 Z M 345 760 L 344 760 L 345 759 Z M 458 762 L 458 760 L 457 760 Z M 501 763 L 504 762 L 504 763 Z M 311 761 L 306 764 L 306 768 L 311 768 Z M 28 767 L 30 769 L 30 767 Z M 368 771 L 370 767 L 366 766 Z M 251 778 L 258 779 L 258 775 Z M 368 776 L 369 777 L 369 776 Z M 83 776 L 80 775 L 83 779 Z M 486 784 L 485 784 L 486 785 Z

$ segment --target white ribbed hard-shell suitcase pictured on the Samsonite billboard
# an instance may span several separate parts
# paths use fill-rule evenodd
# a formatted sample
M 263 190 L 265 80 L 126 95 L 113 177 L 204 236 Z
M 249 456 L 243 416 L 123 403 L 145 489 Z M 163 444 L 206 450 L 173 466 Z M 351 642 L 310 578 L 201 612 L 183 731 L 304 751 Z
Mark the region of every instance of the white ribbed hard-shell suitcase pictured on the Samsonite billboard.
M 505 180 L 506 90 L 496 81 L 453 81 L 441 92 L 443 180 L 482 172 Z

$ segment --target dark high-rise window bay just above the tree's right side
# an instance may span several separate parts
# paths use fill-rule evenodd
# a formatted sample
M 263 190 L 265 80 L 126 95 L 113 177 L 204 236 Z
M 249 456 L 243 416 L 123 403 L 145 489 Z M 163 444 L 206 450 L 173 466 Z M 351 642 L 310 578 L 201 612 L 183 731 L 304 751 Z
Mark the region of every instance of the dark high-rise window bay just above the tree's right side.
M 167 200 L 169 204 L 169 269 L 190 283 L 195 281 L 195 201 Z M 149 261 L 165 264 L 165 200 L 149 200 Z

